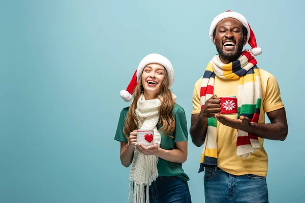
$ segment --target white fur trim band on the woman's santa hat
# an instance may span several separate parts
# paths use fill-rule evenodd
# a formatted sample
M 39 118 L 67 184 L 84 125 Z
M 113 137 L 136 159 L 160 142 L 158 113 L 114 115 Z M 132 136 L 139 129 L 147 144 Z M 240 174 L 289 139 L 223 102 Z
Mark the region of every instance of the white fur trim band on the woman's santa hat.
M 142 75 L 144 67 L 150 63 L 158 63 L 165 67 L 168 75 L 168 88 L 170 88 L 175 78 L 174 69 L 171 62 L 160 54 L 148 54 L 141 60 L 137 71 L 137 81 L 139 82 L 139 78 Z

